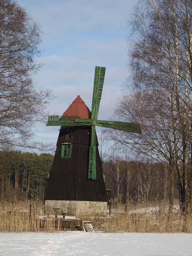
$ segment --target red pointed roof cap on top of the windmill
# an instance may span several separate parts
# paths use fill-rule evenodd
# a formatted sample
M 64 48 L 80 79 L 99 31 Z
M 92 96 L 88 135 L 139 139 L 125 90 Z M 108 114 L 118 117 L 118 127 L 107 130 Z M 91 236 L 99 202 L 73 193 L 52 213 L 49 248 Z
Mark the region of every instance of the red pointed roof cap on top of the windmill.
M 67 110 L 63 113 L 63 116 L 73 116 L 82 119 L 90 119 L 91 112 L 89 108 L 84 104 L 84 101 L 81 99 L 81 97 L 78 95 L 73 103 L 69 106 L 69 108 L 67 108 Z

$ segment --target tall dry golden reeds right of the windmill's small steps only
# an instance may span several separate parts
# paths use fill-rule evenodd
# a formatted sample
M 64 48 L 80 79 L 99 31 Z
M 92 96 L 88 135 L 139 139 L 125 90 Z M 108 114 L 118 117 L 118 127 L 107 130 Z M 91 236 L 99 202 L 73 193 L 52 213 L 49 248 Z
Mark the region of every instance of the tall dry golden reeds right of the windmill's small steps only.
M 130 202 L 125 213 L 125 205 L 112 203 L 111 217 L 90 218 L 96 231 L 139 232 L 139 233 L 192 233 L 192 214 L 180 215 L 175 202 L 173 212 L 168 212 L 166 201 L 158 203 Z

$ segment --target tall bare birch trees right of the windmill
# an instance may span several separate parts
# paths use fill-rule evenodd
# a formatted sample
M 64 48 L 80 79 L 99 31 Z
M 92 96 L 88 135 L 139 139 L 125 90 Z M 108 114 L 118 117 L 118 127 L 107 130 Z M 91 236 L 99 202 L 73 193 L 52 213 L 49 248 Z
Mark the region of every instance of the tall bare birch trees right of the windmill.
M 170 210 L 174 169 L 180 207 L 192 202 L 192 1 L 140 0 L 129 37 L 132 75 L 116 108 L 120 119 L 140 122 L 143 134 L 120 133 L 122 143 L 140 154 L 162 160 L 169 169 Z

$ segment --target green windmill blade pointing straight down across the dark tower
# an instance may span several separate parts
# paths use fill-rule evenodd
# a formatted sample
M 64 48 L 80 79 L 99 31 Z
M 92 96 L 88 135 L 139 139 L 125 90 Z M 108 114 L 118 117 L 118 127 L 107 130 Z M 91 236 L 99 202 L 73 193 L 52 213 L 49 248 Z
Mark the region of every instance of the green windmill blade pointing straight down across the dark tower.
M 95 125 L 91 126 L 91 145 L 89 149 L 88 179 L 96 180 L 96 132 Z

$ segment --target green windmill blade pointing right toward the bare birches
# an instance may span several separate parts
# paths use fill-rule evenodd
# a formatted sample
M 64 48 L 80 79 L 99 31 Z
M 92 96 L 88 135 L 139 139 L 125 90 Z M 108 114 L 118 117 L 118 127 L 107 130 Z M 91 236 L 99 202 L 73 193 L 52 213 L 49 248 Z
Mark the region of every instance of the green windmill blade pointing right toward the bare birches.
M 141 125 L 130 122 L 116 122 L 116 121 L 101 121 L 97 120 L 97 126 L 113 128 L 120 131 L 129 131 L 134 133 L 141 133 Z

